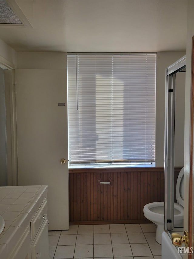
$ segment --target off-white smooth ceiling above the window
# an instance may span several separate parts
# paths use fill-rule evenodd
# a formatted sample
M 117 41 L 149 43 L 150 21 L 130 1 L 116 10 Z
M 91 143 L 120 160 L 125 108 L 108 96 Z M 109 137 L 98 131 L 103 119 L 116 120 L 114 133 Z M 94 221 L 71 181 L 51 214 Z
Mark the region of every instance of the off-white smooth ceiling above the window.
M 14 1 L 33 27 L 0 26 L 17 51 L 186 50 L 187 0 Z

